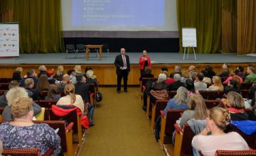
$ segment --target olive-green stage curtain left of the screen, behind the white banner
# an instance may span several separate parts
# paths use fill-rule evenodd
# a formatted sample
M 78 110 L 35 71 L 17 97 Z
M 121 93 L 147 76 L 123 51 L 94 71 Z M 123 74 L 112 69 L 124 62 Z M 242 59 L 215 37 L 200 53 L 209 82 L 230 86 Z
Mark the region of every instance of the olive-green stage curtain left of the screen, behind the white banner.
M 61 0 L 0 1 L 3 5 L 1 16 L 10 18 L 1 21 L 19 23 L 21 53 L 63 51 Z

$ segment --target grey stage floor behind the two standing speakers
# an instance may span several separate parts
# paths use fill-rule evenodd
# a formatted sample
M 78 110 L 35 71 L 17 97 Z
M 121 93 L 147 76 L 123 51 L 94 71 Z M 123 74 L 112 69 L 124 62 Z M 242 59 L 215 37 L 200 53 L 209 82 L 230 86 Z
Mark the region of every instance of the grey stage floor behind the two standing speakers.
M 119 52 L 102 53 L 102 60 L 96 58 L 95 52 L 90 52 L 89 60 L 85 60 L 85 53 L 79 53 L 78 58 L 74 54 L 69 54 L 68 58 L 65 53 L 48 53 L 48 54 L 21 54 L 14 58 L 1 58 L 1 65 L 110 65 L 114 64 L 114 58 Z M 139 64 L 140 52 L 127 52 L 131 64 Z M 156 65 L 175 65 L 175 64 L 216 64 L 216 63 L 255 63 L 256 57 L 235 54 L 196 54 L 197 60 L 194 59 L 193 53 L 189 54 L 188 60 L 183 60 L 183 53 L 174 52 L 149 52 L 152 64 Z M 99 55 L 98 55 L 99 57 Z

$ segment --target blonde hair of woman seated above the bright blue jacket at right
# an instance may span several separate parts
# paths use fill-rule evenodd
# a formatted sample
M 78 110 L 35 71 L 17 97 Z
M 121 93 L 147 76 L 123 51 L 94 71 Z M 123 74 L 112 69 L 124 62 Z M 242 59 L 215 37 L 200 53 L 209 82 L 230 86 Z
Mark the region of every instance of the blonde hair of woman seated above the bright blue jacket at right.
M 245 100 L 242 98 L 240 94 L 235 91 L 228 92 L 227 96 L 228 104 L 233 108 L 243 109 L 245 108 Z

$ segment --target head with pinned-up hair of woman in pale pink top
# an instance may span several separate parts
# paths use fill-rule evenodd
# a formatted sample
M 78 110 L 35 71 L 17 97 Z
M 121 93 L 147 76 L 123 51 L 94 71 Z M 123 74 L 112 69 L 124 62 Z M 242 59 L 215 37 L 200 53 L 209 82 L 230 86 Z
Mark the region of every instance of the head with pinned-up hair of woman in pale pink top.
M 210 109 L 206 124 L 211 132 L 224 131 L 230 123 L 230 113 L 228 109 L 215 106 Z

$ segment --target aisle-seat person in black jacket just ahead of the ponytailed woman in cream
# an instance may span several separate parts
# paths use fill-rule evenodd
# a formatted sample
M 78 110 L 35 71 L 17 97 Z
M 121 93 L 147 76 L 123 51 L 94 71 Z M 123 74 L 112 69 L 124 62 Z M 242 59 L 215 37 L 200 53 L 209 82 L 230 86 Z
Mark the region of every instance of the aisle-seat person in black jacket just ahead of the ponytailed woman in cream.
M 89 86 L 90 84 L 85 84 L 85 77 L 82 73 L 75 75 L 77 83 L 75 84 L 75 94 L 82 96 L 82 99 L 85 100 L 85 103 L 89 102 Z

